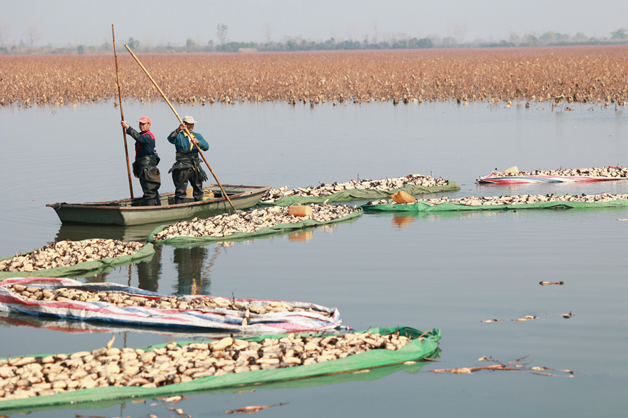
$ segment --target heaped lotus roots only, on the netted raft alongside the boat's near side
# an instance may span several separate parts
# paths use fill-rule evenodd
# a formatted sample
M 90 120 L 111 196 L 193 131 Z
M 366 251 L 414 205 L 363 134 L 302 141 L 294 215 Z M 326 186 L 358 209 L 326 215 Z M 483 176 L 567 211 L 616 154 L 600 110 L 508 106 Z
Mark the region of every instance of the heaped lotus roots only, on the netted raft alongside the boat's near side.
M 232 215 L 217 215 L 207 219 L 194 218 L 191 221 L 177 222 L 157 233 L 155 240 L 167 240 L 174 237 L 226 237 L 237 232 L 252 233 L 267 226 L 278 224 L 294 224 L 305 219 L 328 222 L 357 212 L 359 208 L 346 205 L 308 205 L 312 215 L 295 217 L 290 215 L 288 208 L 271 206 L 270 208 L 253 209 L 248 212 Z

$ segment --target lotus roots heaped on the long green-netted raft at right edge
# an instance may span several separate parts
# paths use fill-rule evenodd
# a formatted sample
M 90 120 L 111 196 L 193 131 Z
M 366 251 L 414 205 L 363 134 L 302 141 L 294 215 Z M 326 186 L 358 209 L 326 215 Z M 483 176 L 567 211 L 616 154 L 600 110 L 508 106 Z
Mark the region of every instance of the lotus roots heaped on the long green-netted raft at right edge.
M 460 199 L 449 199 L 443 196 L 435 199 L 419 199 L 417 202 L 429 203 L 431 206 L 440 205 L 441 203 L 460 203 L 467 206 L 496 206 L 496 205 L 525 205 L 527 203 L 539 202 L 610 202 L 620 199 L 628 199 L 628 194 L 523 194 L 521 196 L 490 196 L 490 197 L 461 197 Z M 394 205 L 404 204 L 396 203 L 392 200 L 382 199 L 373 201 L 373 205 Z M 412 204 L 412 203 L 405 203 Z

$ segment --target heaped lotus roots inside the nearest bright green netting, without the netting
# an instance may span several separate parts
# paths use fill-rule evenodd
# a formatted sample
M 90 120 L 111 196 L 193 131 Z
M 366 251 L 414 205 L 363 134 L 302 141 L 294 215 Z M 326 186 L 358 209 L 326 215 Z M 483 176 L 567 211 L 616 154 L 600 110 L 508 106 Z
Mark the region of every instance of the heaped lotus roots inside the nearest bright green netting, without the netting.
M 287 334 L 259 343 L 225 337 L 184 346 L 170 343 L 149 351 L 107 345 L 70 355 L 0 359 L 0 401 L 93 387 L 154 388 L 207 376 L 329 362 L 369 350 L 399 350 L 410 341 L 398 333 Z

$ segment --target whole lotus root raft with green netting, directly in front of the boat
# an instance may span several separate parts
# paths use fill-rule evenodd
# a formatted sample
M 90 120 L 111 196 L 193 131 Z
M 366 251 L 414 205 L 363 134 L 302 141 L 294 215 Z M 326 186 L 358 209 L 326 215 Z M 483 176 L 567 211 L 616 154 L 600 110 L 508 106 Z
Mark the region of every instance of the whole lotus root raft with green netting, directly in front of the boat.
M 288 208 L 271 206 L 217 215 L 207 219 L 194 218 L 172 225 L 158 226 L 147 240 L 166 245 L 190 245 L 199 242 L 248 240 L 263 235 L 287 233 L 311 226 L 336 224 L 362 215 L 362 210 L 346 205 L 310 205 L 312 215 L 295 217 Z

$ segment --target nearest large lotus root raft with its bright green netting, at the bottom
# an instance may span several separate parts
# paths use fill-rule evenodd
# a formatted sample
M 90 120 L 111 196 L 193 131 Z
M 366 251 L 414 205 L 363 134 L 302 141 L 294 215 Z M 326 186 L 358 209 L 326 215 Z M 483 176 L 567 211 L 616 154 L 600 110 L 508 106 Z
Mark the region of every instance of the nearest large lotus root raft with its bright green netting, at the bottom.
M 0 359 L 0 409 L 149 398 L 413 363 L 438 350 L 440 330 L 375 328 Z M 89 350 L 89 348 L 88 348 Z M 86 405 L 89 406 L 89 405 Z

